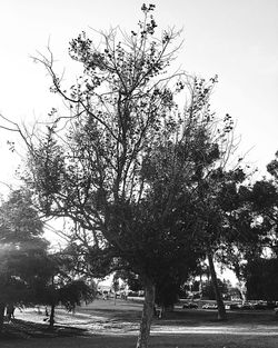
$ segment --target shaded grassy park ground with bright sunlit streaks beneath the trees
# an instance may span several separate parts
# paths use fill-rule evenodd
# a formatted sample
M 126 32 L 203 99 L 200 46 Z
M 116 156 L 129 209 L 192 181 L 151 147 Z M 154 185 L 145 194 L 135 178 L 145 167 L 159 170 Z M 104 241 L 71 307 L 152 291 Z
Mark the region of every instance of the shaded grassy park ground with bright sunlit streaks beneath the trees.
M 6 325 L 1 348 L 133 348 L 138 335 L 141 304 L 96 300 L 75 314 L 59 308 L 56 330 L 49 331 L 44 311 L 34 308 L 16 311 Z M 155 319 L 151 348 L 275 348 L 278 320 L 271 310 L 229 311 L 218 321 L 215 310 L 181 309 Z

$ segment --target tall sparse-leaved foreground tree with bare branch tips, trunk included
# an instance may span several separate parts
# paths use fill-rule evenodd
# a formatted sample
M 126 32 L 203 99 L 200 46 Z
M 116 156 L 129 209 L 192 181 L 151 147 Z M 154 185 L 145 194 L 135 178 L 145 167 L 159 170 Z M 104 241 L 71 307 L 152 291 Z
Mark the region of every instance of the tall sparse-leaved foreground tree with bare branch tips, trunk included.
M 229 133 L 229 119 L 219 131 L 209 109 L 215 79 L 207 84 L 181 71 L 167 74 L 178 33 L 157 38 L 153 9 L 142 6 L 143 19 L 130 34 L 100 33 L 98 46 L 85 32 L 72 40 L 69 53 L 83 72 L 69 89 L 51 51 L 37 57 L 69 113 L 53 109 L 44 135 L 24 136 L 27 180 L 41 211 L 71 218 L 92 253 L 108 250 L 140 275 L 146 297 L 138 348 L 148 347 L 161 272 L 202 255 L 193 242 L 200 225 L 188 207 L 200 173 L 225 161 Z M 177 95 L 186 97 L 183 109 Z

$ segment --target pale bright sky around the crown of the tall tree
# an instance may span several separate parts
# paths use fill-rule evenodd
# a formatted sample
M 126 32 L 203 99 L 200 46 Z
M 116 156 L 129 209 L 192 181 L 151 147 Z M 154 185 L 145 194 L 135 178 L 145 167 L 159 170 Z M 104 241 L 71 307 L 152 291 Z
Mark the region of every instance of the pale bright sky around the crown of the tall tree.
M 183 28 L 178 63 L 190 73 L 219 83 L 212 109 L 230 113 L 241 135 L 241 152 L 264 171 L 278 150 L 278 0 L 160 0 L 158 30 Z M 138 0 L 1 0 L 0 112 L 14 121 L 46 118 L 56 97 L 49 79 L 30 56 L 50 47 L 59 67 L 70 67 L 68 42 L 82 30 L 121 26 L 140 19 Z M 0 180 L 17 165 L 0 131 Z M 0 186 L 1 191 L 1 186 Z

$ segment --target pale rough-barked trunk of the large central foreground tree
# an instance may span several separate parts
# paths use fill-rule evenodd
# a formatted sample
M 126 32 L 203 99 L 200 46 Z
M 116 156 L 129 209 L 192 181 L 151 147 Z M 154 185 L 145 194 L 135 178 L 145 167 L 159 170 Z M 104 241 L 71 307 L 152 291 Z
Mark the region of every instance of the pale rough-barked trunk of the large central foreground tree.
M 152 282 L 148 282 L 145 286 L 142 318 L 136 348 L 148 348 L 151 319 L 153 316 L 153 306 L 155 306 L 155 285 Z

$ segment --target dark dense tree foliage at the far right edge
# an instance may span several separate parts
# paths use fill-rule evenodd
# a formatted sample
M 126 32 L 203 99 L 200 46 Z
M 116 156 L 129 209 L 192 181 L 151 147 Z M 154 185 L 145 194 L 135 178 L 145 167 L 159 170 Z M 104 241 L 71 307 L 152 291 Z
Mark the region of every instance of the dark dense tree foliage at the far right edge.
M 239 206 L 229 217 L 229 245 L 220 252 L 221 261 L 228 265 L 239 279 L 244 300 L 246 295 L 254 297 L 251 295 L 254 292 L 250 291 L 250 277 L 256 282 L 256 276 L 251 275 L 254 265 L 258 265 L 258 267 L 265 265 L 264 257 L 266 255 L 267 258 L 277 256 L 276 166 L 276 160 L 268 165 L 268 171 L 272 176 L 269 179 L 264 178 L 238 188 Z M 267 264 L 267 260 L 265 262 Z M 270 264 L 271 261 L 268 265 Z M 268 271 L 270 269 L 271 267 Z M 257 286 L 254 291 L 257 291 L 256 289 Z

